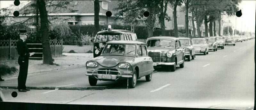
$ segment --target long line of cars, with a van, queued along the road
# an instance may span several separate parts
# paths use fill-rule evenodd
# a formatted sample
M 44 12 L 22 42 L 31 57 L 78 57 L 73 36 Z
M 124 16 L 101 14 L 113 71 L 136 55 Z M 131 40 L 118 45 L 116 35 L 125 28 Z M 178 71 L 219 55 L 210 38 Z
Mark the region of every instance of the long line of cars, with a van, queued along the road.
M 134 88 L 137 79 L 146 77 L 152 79 L 156 67 L 166 68 L 174 72 L 176 66 L 184 67 L 185 59 L 196 58 L 196 54 L 214 52 L 225 45 L 234 45 L 235 38 L 206 37 L 206 38 L 175 38 L 158 36 L 148 38 L 146 43 L 139 42 L 132 31 L 108 30 L 96 34 L 93 48 L 94 58 L 86 62 L 85 75 L 91 86 L 96 86 L 98 80 L 128 82 Z

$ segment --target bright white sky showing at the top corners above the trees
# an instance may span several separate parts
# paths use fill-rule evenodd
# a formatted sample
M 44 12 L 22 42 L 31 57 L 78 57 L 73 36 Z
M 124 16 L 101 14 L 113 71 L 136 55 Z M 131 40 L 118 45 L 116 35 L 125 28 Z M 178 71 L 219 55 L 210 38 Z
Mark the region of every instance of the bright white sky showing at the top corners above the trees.
M 13 4 L 14 0 L 8 0 L 8 1 L 0 1 L 0 8 L 7 8 L 11 4 Z M 26 3 L 28 3 L 28 0 L 20 0 L 20 5 L 17 6 L 20 8 L 22 5 L 24 6 Z M 255 10 L 256 10 L 256 0 L 242 0 L 241 3 L 239 3 L 239 9 L 242 10 L 242 16 L 241 17 L 223 17 L 223 20 L 228 21 L 236 26 L 237 30 L 242 31 L 252 31 L 255 32 Z M 243 28 L 241 28 L 243 27 Z M 248 30 L 247 30 L 248 28 Z M 245 29 L 245 30 L 244 30 Z

